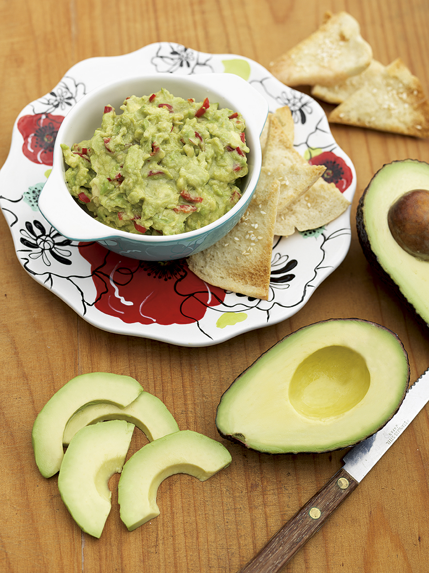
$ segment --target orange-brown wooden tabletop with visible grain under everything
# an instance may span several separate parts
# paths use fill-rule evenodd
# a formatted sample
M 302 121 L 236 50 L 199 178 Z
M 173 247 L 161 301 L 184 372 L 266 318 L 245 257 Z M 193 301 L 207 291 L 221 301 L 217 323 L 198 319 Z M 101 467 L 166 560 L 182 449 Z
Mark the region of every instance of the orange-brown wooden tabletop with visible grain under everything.
M 325 10 L 351 13 L 374 57 L 383 64 L 402 57 L 429 94 L 427 0 L 1 0 L 0 165 L 21 109 L 84 58 L 171 41 L 266 66 L 313 32 Z M 337 125 L 332 132 L 357 172 L 347 257 L 292 318 L 214 346 L 173 346 L 86 323 L 23 270 L 0 217 L 2 572 L 233 573 L 341 466 L 341 451 L 267 456 L 224 441 L 230 467 L 204 483 L 182 474 L 165 480 L 158 492 L 161 515 L 132 533 L 119 519 L 113 477 L 112 512 L 94 539 L 81 533 L 62 504 L 57 477 L 46 480 L 38 472 L 31 444 L 38 411 L 77 374 L 131 375 L 166 403 L 181 429 L 221 440 L 214 417 L 223 391 L 263 351 L 304 325 L 333 317 L 376 321 L 403 341 L 412 380 L 426 370 L 429 331 L 371 273 L 355 213 L 383 164 L 429 160 L 428 141 Z M 285 571 L 429 571 L 428 413 L 426 407 Z M 139 439 L 133 438 L 132 450 Z

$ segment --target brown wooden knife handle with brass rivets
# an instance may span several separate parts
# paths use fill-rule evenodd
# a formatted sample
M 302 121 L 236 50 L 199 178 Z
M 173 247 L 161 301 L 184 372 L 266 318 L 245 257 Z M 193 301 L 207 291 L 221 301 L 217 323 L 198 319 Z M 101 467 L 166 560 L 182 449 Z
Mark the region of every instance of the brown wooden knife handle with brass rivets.
M 280 571 L 357 485 L 358 481 L 340 469 L 239 573 Z

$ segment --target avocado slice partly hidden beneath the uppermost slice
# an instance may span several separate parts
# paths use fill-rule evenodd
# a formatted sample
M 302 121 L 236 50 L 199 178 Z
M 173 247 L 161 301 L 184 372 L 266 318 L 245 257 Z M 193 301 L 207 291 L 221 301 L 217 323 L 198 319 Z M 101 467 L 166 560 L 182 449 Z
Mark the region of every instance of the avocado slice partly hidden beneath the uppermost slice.
M 84 426 L 105 420 L 126 420 L 143 431 L 149 442 L 179 430 L 178 423 L 159 398 L 141 392 L 125 408 L 109 403 L 89 404 L 78 410 L 67 422 L 62 445 L 68 446 L 74 434 Z

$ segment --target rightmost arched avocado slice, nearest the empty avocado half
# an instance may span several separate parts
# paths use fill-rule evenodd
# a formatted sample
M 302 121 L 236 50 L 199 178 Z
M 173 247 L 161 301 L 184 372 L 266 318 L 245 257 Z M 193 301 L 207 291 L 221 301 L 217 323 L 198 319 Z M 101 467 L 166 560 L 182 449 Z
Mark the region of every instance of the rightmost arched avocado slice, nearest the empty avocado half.
M 231 463 L 231 454 L 220 442 L 192 430 L 165 435 L 137 450 L 119 478 L 121 520 L 129 531 L 158 516 L 159 485 L 176 473 L 205 481 Z

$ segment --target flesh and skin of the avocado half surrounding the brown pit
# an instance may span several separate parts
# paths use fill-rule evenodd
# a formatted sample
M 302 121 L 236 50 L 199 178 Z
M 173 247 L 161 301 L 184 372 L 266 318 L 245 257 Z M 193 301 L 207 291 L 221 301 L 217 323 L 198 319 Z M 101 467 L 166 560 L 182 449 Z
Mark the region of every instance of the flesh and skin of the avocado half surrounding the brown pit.
M 429 261 L 406 252 L 388 225 L 391 206 L 416 189 L 429 190 L 429 164 L 416 159 L 394 161 L 381 167 L 360 198 L 356 228 L 371 268 L 414 312 L 429 323 Z

